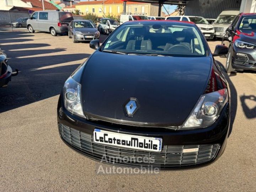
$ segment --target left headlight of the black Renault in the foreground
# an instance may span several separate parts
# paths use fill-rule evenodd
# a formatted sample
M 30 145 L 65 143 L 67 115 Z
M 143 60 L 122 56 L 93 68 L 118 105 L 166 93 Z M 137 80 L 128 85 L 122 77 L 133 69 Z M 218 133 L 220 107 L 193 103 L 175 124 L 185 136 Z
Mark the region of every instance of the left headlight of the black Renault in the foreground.
M 85 117 L 81 104 L 81 85 L 69 77 L 63 87 L 64 106 L 69 112 Z

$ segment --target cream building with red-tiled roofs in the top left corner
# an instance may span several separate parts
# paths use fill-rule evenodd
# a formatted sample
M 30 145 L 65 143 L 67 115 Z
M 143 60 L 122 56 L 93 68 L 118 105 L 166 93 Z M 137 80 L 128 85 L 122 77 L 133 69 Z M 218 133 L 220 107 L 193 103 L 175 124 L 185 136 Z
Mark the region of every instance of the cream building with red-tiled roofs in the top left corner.
M 43 10 L 41 0 L 0 0 L 1 10 L 12 11 L 38 11 Z M 58 10 L 53 4 L 44 1 L 44 9 Z

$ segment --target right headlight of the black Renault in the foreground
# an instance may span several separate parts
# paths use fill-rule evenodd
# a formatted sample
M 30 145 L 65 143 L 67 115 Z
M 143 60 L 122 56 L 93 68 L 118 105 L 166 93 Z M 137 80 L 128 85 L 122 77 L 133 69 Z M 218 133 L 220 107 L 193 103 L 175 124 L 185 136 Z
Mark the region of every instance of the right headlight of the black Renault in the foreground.
M 222 89 L 201 95 L 190 116 L 179 130 L 198 129 L 211 126 L 228 102 L 228 90 Z

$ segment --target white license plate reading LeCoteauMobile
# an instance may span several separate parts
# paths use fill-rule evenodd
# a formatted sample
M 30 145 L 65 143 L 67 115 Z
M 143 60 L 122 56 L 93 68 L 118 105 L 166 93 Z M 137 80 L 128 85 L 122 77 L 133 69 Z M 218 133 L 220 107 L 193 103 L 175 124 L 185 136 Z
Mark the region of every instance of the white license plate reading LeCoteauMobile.
M 162 138 L 114 133 L 94 129 L 94 142 L 143 151 L 161 151 Z

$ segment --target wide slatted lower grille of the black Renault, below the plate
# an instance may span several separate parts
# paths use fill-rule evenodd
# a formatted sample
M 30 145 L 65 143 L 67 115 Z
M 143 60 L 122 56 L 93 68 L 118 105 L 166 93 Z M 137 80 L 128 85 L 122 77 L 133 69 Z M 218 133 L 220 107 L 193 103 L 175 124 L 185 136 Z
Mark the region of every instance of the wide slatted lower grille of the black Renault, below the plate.
M 219 144 L 209 145 L 164 145 L 162 151 L 142 151 L 127 148 L 118 148 L 94 142 L 93 135 L 81 132 L 59 123 L 61 137 L 81 153 L 101 160 L 105 157 L 108 162 L 119 163 L 125 166 L 154 166 L 154 167 L 180 167 L 195 165 L 212 160 L 219 149 Z M 184 149 L 199 148 L 196 152 L 183 153 Z M 104 158 L 104 159 L 105 159 Z M 123 159 L 134 158 L 123 162 Z M 140 162 L 137 161 L 140 158 Z M 141 162 L 142 158 L 150 159 Z M 105 160 L 106 161 L 106 160 Z

